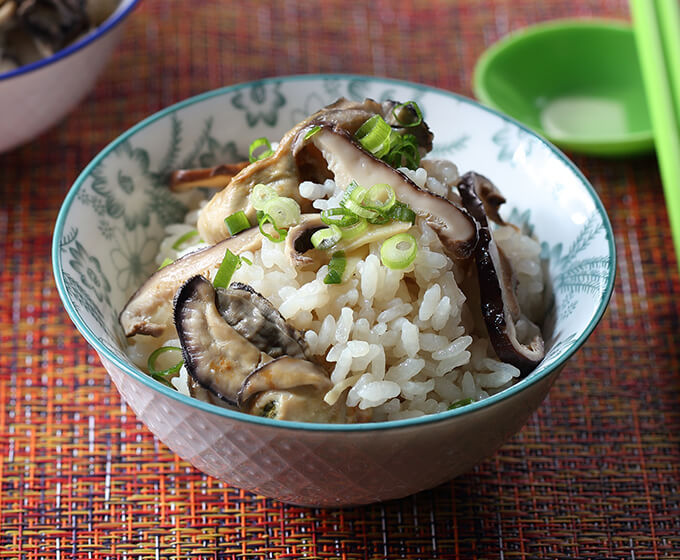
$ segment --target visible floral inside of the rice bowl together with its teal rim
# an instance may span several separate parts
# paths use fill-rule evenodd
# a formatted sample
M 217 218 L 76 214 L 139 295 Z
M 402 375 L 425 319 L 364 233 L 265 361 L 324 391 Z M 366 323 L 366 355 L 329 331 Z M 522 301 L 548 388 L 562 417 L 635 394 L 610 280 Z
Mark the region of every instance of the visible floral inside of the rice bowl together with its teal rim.
M 615 268 L 609 220 L 583 175 L 544 140 L 468 99 L 406 82 L 333 75 L 270 79 L 189 99 L 121 135 L 82 172 L 57 220 L 53 265 L 69 315 L 100 356 L 172 398 L 243 421 L 281 424 L 200 403 L 157 383 L 127 358 L 117 316 L 156 268 L 164 227 L 186 211 L 186 201 L 166 187 L 170 170 L 242 159 L 253 139 L 278 139 L 340 96 L 417 101 L 435 135 L 432 157 L 451 159 L 461 172 L 476 170 L 498 185 L 508 199 L 506 218 L 525 223 L 541 239 L 552 278 L 548 353 L 533 373 L 465 409 L 384 424 L 429 422 L 487 406 L 568 359 L 602 316 Z

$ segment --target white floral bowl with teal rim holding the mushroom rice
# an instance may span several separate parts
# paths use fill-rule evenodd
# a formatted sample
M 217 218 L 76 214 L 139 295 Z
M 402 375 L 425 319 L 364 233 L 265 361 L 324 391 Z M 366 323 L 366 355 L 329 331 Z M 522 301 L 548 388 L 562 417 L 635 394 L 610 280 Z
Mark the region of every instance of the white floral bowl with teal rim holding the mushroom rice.
M 154 269 L 163 228 L 183 203 L 164 177 L 236 160 L 257 137 L 278 138 L 340 96 L 416 100 L 435 155 L 490 177 L 542 240 L 554 291 L 547 355 L 516 385 L 460 409 L 361 425 L 281 422 L 185 397 L 137 369 L 117 315 Z M 362 504 L 441 484 L 491 455 L 539 406 L 605 311 L 614 238 L 593 188 L 556 148 L 458 95 L 386 79 L 323 75 L 212 91 L 165 109 L 107 146 L 71 188 L 57 220 L 59 294 L 121 395 L 168 447 L 229 484 L 286 502 Z

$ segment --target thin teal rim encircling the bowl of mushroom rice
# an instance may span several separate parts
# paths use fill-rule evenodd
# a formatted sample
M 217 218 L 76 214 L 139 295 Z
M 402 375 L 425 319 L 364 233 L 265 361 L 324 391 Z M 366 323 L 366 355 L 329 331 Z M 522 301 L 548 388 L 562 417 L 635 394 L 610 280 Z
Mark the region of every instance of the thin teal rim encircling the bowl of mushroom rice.
M 475 403 L 469 404 L 465 407 L 453 409 L 453 410 L 447 410 L 444 412 L 437 412 L 434 414 L 426 414 L 424 416 L 419 416 L 417 418 L 407 418 L 403 420 L 390 420 L 390 421 L 384 421 L 384 422 L 369 422 L 365 424 L 321 424 L 321 423 L 306 423 L 306 422 L 291 422 L 291 421 L 281 421 L 281 420 L 272 420 L 270 418 L 262 418 L 259 416 L 252 416 L 249 414 L 245 414 L 243 412 L 238 412 L 235 410 L 229 410 L 226 408 L 221 408 L 216 405 L 200 401 L 198 399 L 194 399 L 192 397 L 188 397 L 186 395 L 183 395 L 182 393 L 179 393 L 178 391 L 175 391 L 173 389 L 170 389 L 169 387 L 166 387 L 165 385 L 162 385 L 161 383 L 158 383 L 145 373 L 143 373 L 141 370 L 138 368 L 134 367 L 132 364 L 125 362 L 121 360 L 118 356 L 113 354 L 108 350 L 108 348 L 95 336 L 95 334 L 90 330 L 90 328 L 85 324 L 85 322 L 81 319 L 80 315 L 78 314 L 77 310 L 71 303 L 71 301 L 68 298 L 68 292 L 66 291 L 66 286 L 64 284 L 64 278 L 62 275 L 62 267 L 61 267 L 61 252 L 59 251 L 59 240 L 61 239 L 62 232 L 64 229 L 64 222 L 66 221 L 66 216 L 69 212 L 69 209 L 71 207 L 71 204 L 73 203 L 78 190 L 82 186 L 82 184 L 85 182 L 85 180 L 88 178 L 92 170 L 105 158 L 108 156 L 108 154 L 113 151 L 119 144 L 122 142 L 125 142 L 128 140 L 131 136 L 135 135 L 137 132 L 140 130 L 146 128 L 150 124 L 156 122 L 157 120 L 160 120 L 175 111 L 179 109 L 183 109 L 185 107 L 188 107 L 190 105 L 194 105 L 196 103 L 200 103 L 206 99 L 210 99 L 212 97 L 219 97 L 221 95 L 225 95 L 227 93 L 239 91 L 244 88 L 249 88 L 252 87 L 253 85 L 256 84 L 266 84 L 266 83 L 274 83 L 274 82 L 281 82 L 281 81 L 310 81 L 310 80 L 323 80 L 323 79 L 341 79 L 341 80 L 355 80 L 355 81 L 364 81 L 364 82 L 383 82 L 387 84 L 392 84 L 392 85 L 398 85 L 398 86 L 403 86 L 403 87 L 408 87 L 408 88 L 413 88 L 418 91 L 421 91 L 423 93 L 425 92 L 434 92 L 440 95 L 444 95 L 447 97 L 450 97 L 452 99 L 455 99 L 458 102 L 465 103 L 467 105 L 471 105 L 473 107 L 482 109 L 483 111 L 486 111 L 488 113 L 491 113 L 497 117 L 500 117 L 502 120 L 504 120 L 507 123 L 510 123 L 512 125 L 518 126 L 521 128 L 523 131 L 527 132 L 531 136 L 533 136 L 535 139 L 540 141 L 544 146 L 546 146 L 558 159 L 560 159 L 581 181 L 581 183 L 585 186 L 586 190 L 588 193 L 591 195 L 595 206 L 597 208 L 597 211 L 602 217 L 602 222 L 605 228 L 606 232 L 606 237 L 607 237 L 607 242 L 608 242 L 608 247 L 609 247 L 609 255 L 610 255 L 610 262 L 611 262 L 611 268 L 609 270 L 609 277 L 607 279 L 607 285 L 605 288 L 605 291 L 603 293 L 603 297 L 600 299 L 600 303 L 598 308 L 595 311 L 595 314 L 593 315 L 590 323 L 586 326 L 584 331 L 581 333 L 581 335 L 576 339 L 569 349 L 564 353 L 564 355 L 555 363 L 551 364 L 549 367 L 547 367 L 545 370 L 540 371 L 538 374 L 529 374 L 527 377 L 524 379 L 520 380 L 517 382 L 515 385 L 505 389 L 504 391 L 501 391 L 500 393 L 497 393 L 495 395 L 491 395 L 487 397 L 484 400 L 477 401 Z M 475 412 L 478 412 L 484 408 L 493 406 L 495 403 L 500 402 L 502 400 L 508 399 L 512 397 L 513 395 L 520 393 L 523 391 L 526 387 L 533 385 L 534 383 L 538 383 L 545 377 L 549 376 L 551 373 L 553 373 L 555 370 L 561 368 L 566 361 L 573 356 L 573 354 L 583 345 L 583 343 L 587 340 L 587 338 L 590 336 L 590 334 L 593 332 L 597 324 L 600 322 L 602 319 L 602 316 L 607 308 L 607 305 L 609 303 L 609 299 L 611 298 L 612 291 L 614 288 L 614 279 L 616 276 L 616 249 L 615 249 L 615 244 L 614 244 L 614 234 L 613 230 L 611 227 L 611 223 L 609 222 L 609 217 L 607 216 L 607 212 L 604 209 L 604 206 L 602 202 L 600 201 L 599 197 L 597 196 L 597 193 L 595 192 L 595 189 L 592 187 L 592 185 L 588 182 L 588 180 L 585 178 L 583 173 L 574 165 L 574 163 L 567 158 L 566 155 L 564 155 L 559 149 L 557 149 L 555 146 L 550 144 L 548 141 L 545 139 L 541 138 L 540 136 L 536 135 L 533 131 L 531 131 L 529 128 L 524 126 L 523 124 L 517 122 L 516 120 L 508 117 L 507 115 L 504 115 L 494 109 L 490 109 L 488 107 L 485 107 L 476 101 L 469 99 L 467 97 L 464 97 L 462 95 L 452 93 L 446 90 L 438 89 L 435 87 L 431 86 L 426 86 L 423 84 L 415 84 L 412 82 L 407 82 L 404 80 L 395 80 L 391 78 L 380 78 L 380 77 L 371 77 L 371 76 L 363 76 L 363 75 L 354 75 L 354 74 L 298 74 L 298 75 L 292 75 L 292 76 L 280 76 L 280 77 L 272 77 L 272 78 L 264 78 L 261 80 L 255 80 L 252 82 L 244 82 L 244 83 L 239 83 L 231 86 L 226 86 L 223 88 L 211 90 L 199 95 L 196 95 L 194 97 L 190 97 L 188 99 L 185 99 L 184 101 L 180 101 L 179 103 L 176 103 L 174 105 L 171 105 L 169 107 L 166 107 L 165 109 L 162 109 L 158 111 L 157 113 L 154 113 L 153 115 L 147 117 L 140 123 L 136 124 L 132 128 L 129 128 L 127 131 L 125 131 L 123 134 L 118 136 L 115 140 L 113 140 L 111 143 L 109 143 L 101 152 L 99 152 L 94 159 L 85 167 L 85 169 L 80 173 L 78 178 L 75 180 L 73 185 L 71 186 L 69 192 L 66 195 L 66 198 L 64 199 L 64 202 L 62 204 L 62 207 L 59 211 L 59 215 L 57 216 L 57 221 L 54 227 L 54 234 L 53 234 L 53 239 L 52 239 L 52 267 L 53 267 L 53 273 L 54 273 L 54 278 L 57 286 L 57 291 L 59 293 L 59 297 L 62 300 L 62 303 L 64 304 L 64 307 L 66 308 L 66 312 L 68 313 L 69 317 L 71 318 L 71 321 L 73 321 L 74 325 L 78 329 L 78 331 L 81 333 L 81 335 L 85 338 L 85 340 L 94 348 L 94 350 L 100 355 L 101 357 L 104 357 L 106 360 L 109 362 L 112 362 L 113 364 L 116 365 L 116 367 L 120 368 L 122 371 L 124 371 L 126 374 L 130 375 L 133 377 L 135 380 L 143 383 L 150 389 L 161 393 L 162 395 L 169 397 L 171 399 L 177 400 L 185 405 L 188 405 L 190 407 L 198 408 L 204 412 L 209 412 L 212 414 L 216 414 L 218 416 L 223 416 L 225 418 L 229 418 L 231 420 L 235 420 L 238 422 L 247 422 L 251 424 L 257 424 L 263 427 L 268 427 L 268 428 L 276 428 L 280 430 L 308 430 L 308 431 L 316 431 L 316 432 L 332 432 L 332 433 L 346 433 L 346 432 L 370 432 L 374 430 L 391 430 L 391 429 L 400 429 L 400 428 L 412 428 L 416 426 L 421 426 L 424 424 L 432 424 L 436 422 L 442 422 L 442 421 L 447 421 L 451 420 L 452 418 L 455 418 L 457 416 L 462 416 L 465 414 L 472 414 Z

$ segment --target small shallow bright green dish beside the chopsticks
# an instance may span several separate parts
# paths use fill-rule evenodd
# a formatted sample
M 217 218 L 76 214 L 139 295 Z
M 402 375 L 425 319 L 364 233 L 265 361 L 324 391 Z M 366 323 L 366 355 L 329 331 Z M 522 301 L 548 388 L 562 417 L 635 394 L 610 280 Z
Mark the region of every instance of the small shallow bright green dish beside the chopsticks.
M 574 152 L 620 156 L 654 149 L 632 28 L 557 20 L 492 45 L 475 66 L 482 103 Z

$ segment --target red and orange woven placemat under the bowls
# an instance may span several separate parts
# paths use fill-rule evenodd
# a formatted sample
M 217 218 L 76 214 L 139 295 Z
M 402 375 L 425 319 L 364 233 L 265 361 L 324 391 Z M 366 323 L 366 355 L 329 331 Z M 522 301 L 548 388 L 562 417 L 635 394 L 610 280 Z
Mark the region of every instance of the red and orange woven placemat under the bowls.
M 628 18 L 625 0 L 272 4 L 145 0 L 78 109 L 0 155 L 0 558 L 680 558 L 680 282 L 653 157 L 574 158 L 615 230 L 609 310 L 526 427 L 450 483 L 345 510 L 284 505 L 179 460 L 121 402 L 50 265 L 61 201 L 107 142 L 277 74 L 471 96 L 475 60 L 513 29 Z

